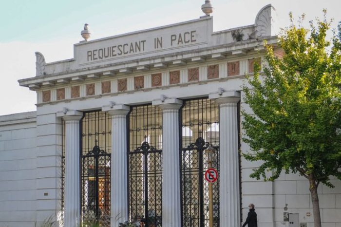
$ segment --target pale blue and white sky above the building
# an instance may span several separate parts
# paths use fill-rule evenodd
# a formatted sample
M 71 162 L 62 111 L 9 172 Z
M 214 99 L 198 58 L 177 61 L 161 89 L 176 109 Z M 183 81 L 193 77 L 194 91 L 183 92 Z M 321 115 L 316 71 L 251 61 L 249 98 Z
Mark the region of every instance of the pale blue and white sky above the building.
M 35 76 L 35 51 L 46 62 L 73 57 L 73 44 L 89 24 L 91 39 L 163 26 L 203 16 L 205 0 L 10 0 L 0 6 L 0 115 L 35 111 L 36 94 L 19 87 L 18 79 Z M 213 30 L 253 24 L 258 11 L 271 3 L 277 27 L 289 24 L 288 13 L 308 20 L 341 21 L 341 0 L 211 0 Z

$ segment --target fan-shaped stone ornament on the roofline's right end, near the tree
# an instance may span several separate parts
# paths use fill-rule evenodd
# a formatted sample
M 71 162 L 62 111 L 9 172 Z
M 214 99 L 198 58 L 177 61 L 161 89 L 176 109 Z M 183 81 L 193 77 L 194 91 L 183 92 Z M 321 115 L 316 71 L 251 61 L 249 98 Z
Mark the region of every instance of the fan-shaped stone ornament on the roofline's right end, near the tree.
M 273 34 L 273 24 L 275 16 L 275 8 L 271 5 L 265 5 L 257 14 L 255 25 L 256 25 L 256 37 L 261 38 L 271 36 Z

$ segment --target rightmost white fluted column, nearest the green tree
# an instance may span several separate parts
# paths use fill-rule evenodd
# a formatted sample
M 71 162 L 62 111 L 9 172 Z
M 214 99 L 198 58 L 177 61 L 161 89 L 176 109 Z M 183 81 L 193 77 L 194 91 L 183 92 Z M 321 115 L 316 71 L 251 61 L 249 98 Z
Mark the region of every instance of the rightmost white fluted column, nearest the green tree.
M 220 226 L 240 227 L 240 189 L 238 156 L 239 92 L 212 94 L 219 104 L 220 134 Z

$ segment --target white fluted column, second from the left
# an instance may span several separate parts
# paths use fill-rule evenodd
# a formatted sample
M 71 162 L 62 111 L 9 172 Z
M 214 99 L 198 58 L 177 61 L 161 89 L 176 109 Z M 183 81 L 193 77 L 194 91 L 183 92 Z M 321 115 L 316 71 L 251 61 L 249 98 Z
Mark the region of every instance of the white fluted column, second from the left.
M 112 117 L 111 151 L 111 226 L 129 220 L 127 191 L 127 114 L 130 107 L 115 105 L 103 107 Z

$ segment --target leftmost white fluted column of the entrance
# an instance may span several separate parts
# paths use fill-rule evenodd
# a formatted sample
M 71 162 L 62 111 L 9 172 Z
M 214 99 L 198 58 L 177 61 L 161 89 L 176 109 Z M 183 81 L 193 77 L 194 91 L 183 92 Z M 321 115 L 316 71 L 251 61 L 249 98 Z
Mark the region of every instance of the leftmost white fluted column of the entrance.
M 76 227 L 80 223 L 79 186 L 79 120 L 83 113 L 68 111 L 65 121 L 65 204 L 64 227 Z

